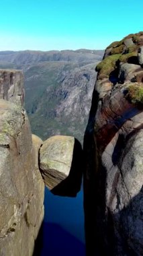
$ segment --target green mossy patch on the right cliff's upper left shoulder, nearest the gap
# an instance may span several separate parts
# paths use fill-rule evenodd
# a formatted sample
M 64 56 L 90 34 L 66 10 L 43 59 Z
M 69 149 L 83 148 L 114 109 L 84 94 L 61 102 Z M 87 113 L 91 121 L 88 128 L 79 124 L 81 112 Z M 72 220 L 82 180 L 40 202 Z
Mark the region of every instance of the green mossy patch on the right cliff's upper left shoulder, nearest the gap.
M 121 54 L 111 55 L 96 66 L 96 71 L 99 72 L 99 77 L 108 77 L 111 71 L 116 68 L 116 63 L 120 59 Z

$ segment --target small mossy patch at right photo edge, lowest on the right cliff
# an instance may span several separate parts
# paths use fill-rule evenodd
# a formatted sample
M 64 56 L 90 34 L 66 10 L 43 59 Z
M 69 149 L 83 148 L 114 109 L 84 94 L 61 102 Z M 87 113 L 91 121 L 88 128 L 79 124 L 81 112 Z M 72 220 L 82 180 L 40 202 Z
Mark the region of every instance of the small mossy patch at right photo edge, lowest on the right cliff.
M 128 86 L 127 90 L 126 98 L 128 100 L 133 104 L 143 105 L 143 85 L 131 84 Z

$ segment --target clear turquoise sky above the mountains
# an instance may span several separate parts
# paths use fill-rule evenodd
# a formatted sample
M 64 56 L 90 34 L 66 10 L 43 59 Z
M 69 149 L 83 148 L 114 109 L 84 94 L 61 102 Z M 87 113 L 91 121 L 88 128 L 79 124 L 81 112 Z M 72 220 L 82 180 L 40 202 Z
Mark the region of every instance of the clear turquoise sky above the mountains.
M 105 49 L 143 30 L 142 0 L 3 0 L 0 51 Z

